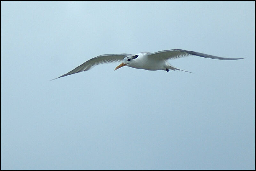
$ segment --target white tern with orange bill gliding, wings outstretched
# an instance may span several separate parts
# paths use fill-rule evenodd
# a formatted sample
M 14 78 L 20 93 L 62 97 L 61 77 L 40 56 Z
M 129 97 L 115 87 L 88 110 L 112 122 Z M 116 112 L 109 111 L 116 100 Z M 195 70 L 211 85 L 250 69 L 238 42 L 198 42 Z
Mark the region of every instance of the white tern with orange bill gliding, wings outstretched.
M 145 69 L 150 71 L 156 71 L 156 70 L 164 70 L 169 72 L 170 70 L 179 70 L 184 71 L 178 68 L 175 68 L 171 64 L 168 63 L 168 59 L 177 59 L 180 57 L 186 57 L 186 56 L 199 56 L 204 58 L 211 58 L 211 59 L 220 59 L 220 60 L 237 60 L 237 59 L 244 59 L 244 58 L 223 58 L 213 55 L 207 55 L 204 53 L 198 53 L 194 51 L 186 51 L 182 49 L 171 49 L 171 50 L 164 50 L 164 51 L 158 51 L 155 53 L 149 53 L 149 52 L 141 52 L 135 55 L 132 54 L 106 54 L 106 55 L 100 55 L 97 57 L 94 57 L 86 62 L 84 62 L 82 65 L 77 66 L 72 71 L 69 71 L 68 73 L 61 75 L 60 77 L 65 77 L 67 75 L 87 71 L 91 69 L 93 66 L 103 64 L 103 63 L 110 63 L 110 62 L 118 62 L 122 61 L 120 65 L 118 65 L 115 70 L 123 67 L 123 66 L 129 66 L 132 68 L 137 69 Z M 189 71 L 186 71 L 189 72 Z M 58 77 L 58 78 L 60 78 Z M 57 78 L 55 78 L 57 79 Z M 55 80 L 53 79 L 53 80 Z

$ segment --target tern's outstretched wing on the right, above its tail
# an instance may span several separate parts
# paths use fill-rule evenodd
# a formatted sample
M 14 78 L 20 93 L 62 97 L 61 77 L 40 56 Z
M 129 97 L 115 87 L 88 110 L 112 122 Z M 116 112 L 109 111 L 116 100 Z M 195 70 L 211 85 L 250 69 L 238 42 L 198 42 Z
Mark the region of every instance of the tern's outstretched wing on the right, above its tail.
M 177 59 L 177 58 L 185 57 L 188 55 L 195 55 L 195 56 L 200 56 L 200 57 L 204 57 L 204 58 L 220 59 L 220 60 L 244 59 L 244 58 L 223 58 L 223 57 L 218 57 L 218 56 L 213 56 L 213 55 L 207 55 L 204 53 L 186 51 L 186 50 L 182 50 L 182 49 L 171 49 L 171 50 L 159 51 L 159 52 L 149 54 L 149 57 L 159 58 L 160 60 L 163 60 L 163 59 L 167 60 L 167 59 Z

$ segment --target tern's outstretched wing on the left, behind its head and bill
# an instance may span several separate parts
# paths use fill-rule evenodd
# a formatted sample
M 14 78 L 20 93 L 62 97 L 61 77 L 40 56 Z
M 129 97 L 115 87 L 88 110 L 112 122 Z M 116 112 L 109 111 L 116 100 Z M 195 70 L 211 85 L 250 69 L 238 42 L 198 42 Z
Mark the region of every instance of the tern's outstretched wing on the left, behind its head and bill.
M 117 61 L 123 61 L 123 59 L 126 56 L 130 56 L 131 54 L 107 54 L 107 55 L 100 55 L 97 57 L 94 57 L 86 62 L 84 62 L 82 65 L 77 66 L 75 69 L 72 71 L 69 71 L 67 74 L 61 75 L 60 77 L 65 77 L 67 75 L 87 71 L 91 69 L 93 66 L 99 65 L 99 64 L 104 64 L 104 63 L 110 63 L 110 62 L 117 62 Z M 58 78 L 60 78 L 58 77 Z M 57 79 L 57 78 L 55 78 Z M 53 80 L 55 80 L 53 79 Z

